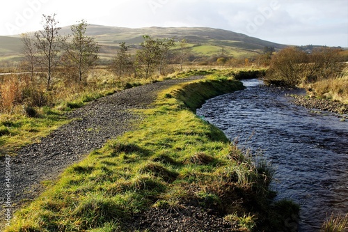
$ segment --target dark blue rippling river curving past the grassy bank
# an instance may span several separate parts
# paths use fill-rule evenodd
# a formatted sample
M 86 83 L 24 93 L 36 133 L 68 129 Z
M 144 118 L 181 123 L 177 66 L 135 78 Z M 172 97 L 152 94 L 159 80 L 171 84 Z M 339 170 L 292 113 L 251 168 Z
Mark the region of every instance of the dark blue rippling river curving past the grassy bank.
M 246 90 L 207 100 L 198 116 L 239 146 L 262 150 L 276 168 L 278 199 L 301 206 L 299 231 L 319 231 L 326 215 L 348 212 L 348 121 L 292 105 L 291 93 L 244 80 Z

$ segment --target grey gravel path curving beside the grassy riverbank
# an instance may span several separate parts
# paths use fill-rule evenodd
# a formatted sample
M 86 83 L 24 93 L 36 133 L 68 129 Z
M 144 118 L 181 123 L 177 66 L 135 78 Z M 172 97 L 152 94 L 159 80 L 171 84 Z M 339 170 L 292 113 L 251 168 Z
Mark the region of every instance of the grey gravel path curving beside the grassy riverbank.
M 130 110 L 148 107 L 154 102 L 157 92 L 169 86 L 202 78 L 170 79 L 130 88 L 70 112 L 68 118 L 77 120 L 58 128 L 40 143 L 18 150 L 17 156 L 12 158 L 10 187 L 13 192 L 10 200 L 14 209 L 42 192 L 42 180 L 54 180 L 65 168 L 95 148 L 101 148 L 107 140 L 131 130 L 130 122 L 140 118 Z M 5 166 L 6 162 L 1 160 L 0 170 L 5 170 Z M 6 202 L 6 180 L 4 171 L 1 172 L 0 196 L 3 206 Z M 2 217 L 3 213 L 0 219 Z

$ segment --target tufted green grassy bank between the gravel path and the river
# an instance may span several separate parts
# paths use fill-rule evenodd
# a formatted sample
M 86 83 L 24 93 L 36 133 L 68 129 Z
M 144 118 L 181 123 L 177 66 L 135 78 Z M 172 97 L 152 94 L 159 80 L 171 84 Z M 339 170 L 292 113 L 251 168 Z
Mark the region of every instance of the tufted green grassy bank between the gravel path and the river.
M 299 209 L 270 205 L 272 169 L 193 114 L 205 99 L 242 88 L 224 78 L 163 91 L 137 112 L 145 116 L 138 129 L 65 170 L 6 231 L 127 231 L 136 213 L 189 204 L 219 211 L 235 231 L 285 230 Z

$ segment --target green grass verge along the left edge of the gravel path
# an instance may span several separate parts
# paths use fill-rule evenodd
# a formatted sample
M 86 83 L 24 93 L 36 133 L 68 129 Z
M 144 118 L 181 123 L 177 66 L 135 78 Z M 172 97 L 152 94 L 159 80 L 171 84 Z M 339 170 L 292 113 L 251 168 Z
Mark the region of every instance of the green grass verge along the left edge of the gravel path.
M 73 100 L 66 100 L 56 107 L 35 107 L 35 116 L 22 113 L 24 106 L 17 106 L 17 114 L 0 114 L 0 157 L 14 153 L 17 148 L 40 141 L 53 130 L 65 123 L 69 123 L 65 117 L 66 111 L 80 108 L 88 102 L 105 95 L 114 93 L 114 90 L 80 93 L 73 96 Z

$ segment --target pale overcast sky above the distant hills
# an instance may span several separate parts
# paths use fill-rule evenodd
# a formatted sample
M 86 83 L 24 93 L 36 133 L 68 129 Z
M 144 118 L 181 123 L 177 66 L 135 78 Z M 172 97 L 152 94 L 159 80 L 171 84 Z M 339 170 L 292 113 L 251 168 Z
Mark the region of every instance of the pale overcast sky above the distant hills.
M 10 0 L 0 35 L 42 29 L 42 14 L 68 26 L 208 26 L 287 45 L 348 47 L 347 0 Z

